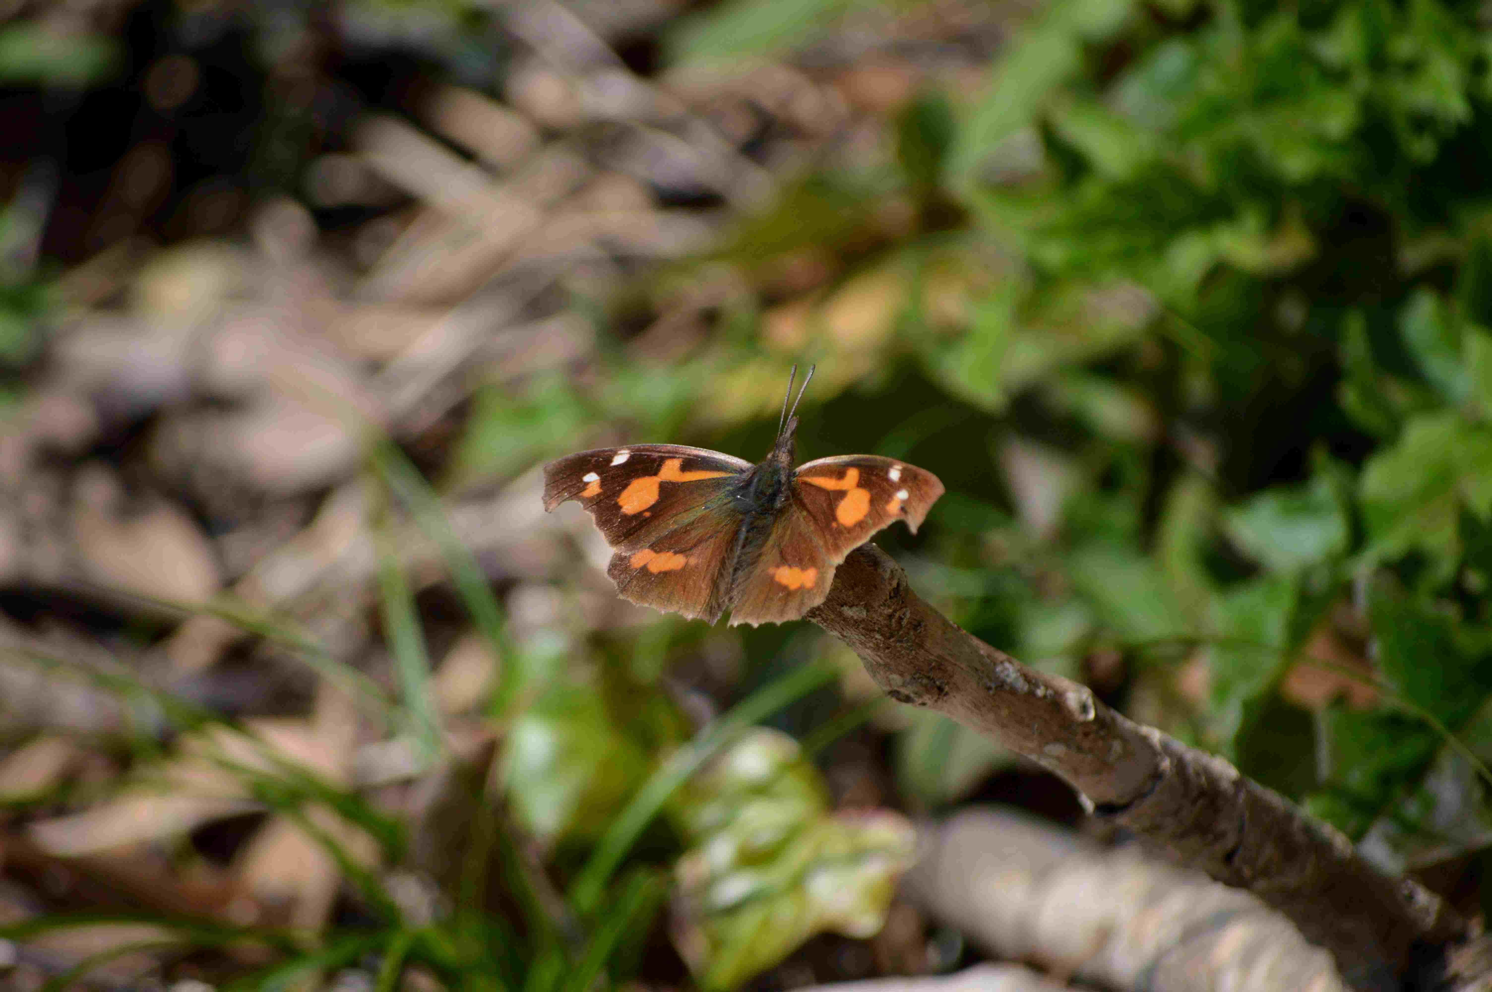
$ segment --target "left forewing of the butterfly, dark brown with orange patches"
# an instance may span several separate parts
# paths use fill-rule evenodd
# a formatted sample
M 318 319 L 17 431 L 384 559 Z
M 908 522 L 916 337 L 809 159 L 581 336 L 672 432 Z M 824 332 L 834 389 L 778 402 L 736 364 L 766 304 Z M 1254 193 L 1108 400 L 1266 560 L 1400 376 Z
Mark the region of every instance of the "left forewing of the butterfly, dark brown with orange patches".
M 545 509 L 577 500 L 612 547 L 646 550 L 730 500 L 750 462 L 682 445 L 630 445 L 567 455 L 545 465 Z

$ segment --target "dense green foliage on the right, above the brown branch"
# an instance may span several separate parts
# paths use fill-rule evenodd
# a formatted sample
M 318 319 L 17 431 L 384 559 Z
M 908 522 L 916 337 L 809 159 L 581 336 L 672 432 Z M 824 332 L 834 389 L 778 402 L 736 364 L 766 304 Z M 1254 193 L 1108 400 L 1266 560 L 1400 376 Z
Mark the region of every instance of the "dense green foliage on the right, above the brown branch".
M 1434 0 L 1308 12 L 1219 1 L 1176 16 L 1189 24 L 1056 4 L 965 112 L 947 179 L 1022 246 L 1022 274 L 989 304 L 998 322 L 973 321 L 959 348 L 982 349 L 998 370 L 988 379 L 1009 377 L 997 342 L 1046 324 L 1064 292 L 1119 279 L 1155 301 L 1140 328 L 1153 371 L 1137 367 L 1134 334 L 1088 330 L 1088 361 L 1152 383 L 1174 424 L 1216 425 L 1194 436 L 1212 449 L 1220 506 L 1177 530 L 1182 486 L 1197 483 L 1141 474 L 1162 512 L 1097 541 L 1085 534 L 1122 521 L 1123 486 L 1094 497 L 1104 506 L 1086 519 L 1070 507 L 1062 571 L 1118 643 L 1212 641 L 1206 704 L 1158 719 L 1191 709 L 1176 729 L 1201 718 L 1204 740 L 1246 771 L 1314 794 L 1313 809 L 1355 835 L 1392 822 L 1379 843 L 1410 844 L 1426 809 L 1411 794 L 1458 753 L 1447 735 L 1492 692 L 1486 610 L 1467 600 L 1485 589 L 1473 549 L 1492 513 L 1486 242 L 1471 180 L 1492 164 L 1479 139 L 1492 110 L 1488 34 L 1464 6 Z M 1103 52 L 1122 54 L 1118 70 L 1095 72 Z M 1037 161 L 1015 182 L 986 180 L 1021 136 Z M 1338 449 L 1350 464 L 1320 456 Z M 1270 577 L 1240 574 L 1237 556 Z M 1383 709 L 1337 703 L 1313 722 L 1279 698 L 1283 677 L 1331 604 L 1374 574 Z M 1329 761 L 1313 770 L 1291 752 L 1310 753 L 1317 729 Z

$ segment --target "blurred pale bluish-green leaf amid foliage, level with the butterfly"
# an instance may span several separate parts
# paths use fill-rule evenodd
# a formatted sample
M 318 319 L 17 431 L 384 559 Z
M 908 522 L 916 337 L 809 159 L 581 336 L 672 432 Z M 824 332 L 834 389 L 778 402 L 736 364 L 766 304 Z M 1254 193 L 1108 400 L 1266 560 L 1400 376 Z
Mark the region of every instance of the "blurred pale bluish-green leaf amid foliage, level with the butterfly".
M 1223 513 L 1223 527 L 1250 558 L 1274 571 L 1298 571 L 1343 555 L 1350 530 L 1331 482 L 1265 489 Z

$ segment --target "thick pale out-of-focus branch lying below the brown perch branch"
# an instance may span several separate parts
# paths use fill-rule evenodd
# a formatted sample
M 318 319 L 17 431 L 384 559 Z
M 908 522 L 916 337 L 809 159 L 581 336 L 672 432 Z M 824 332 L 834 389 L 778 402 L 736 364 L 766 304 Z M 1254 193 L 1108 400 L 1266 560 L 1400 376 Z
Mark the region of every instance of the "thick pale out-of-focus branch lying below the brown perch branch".
M 927 840 L 910 897 L 1000 959 L 1123 992 L 1344 989 L 1331 955 L 1256 897 L 1134 846 L 1103 849 L 991 807 Z

